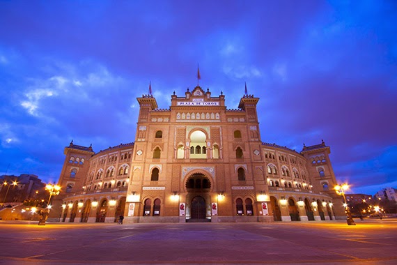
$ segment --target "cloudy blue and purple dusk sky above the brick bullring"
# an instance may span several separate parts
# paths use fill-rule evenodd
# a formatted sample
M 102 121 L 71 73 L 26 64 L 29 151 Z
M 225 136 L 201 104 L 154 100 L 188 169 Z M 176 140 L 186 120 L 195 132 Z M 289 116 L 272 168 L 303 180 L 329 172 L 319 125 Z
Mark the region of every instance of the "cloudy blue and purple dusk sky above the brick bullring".
M 260 98 L 263 142 L 331 147 L 348 192 L 397 188 L 397 1 L 0 1 L 0 175 L 57 181 L 197 84 Z

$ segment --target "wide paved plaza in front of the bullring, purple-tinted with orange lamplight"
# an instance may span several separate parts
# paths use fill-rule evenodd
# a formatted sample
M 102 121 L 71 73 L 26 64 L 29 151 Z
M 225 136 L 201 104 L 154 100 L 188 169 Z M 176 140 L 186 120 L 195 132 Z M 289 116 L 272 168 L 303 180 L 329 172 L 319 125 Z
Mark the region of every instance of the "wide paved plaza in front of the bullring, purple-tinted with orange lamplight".
M 397 264 L 397 220 L 81 224 L 0 221 L 0 264 Z

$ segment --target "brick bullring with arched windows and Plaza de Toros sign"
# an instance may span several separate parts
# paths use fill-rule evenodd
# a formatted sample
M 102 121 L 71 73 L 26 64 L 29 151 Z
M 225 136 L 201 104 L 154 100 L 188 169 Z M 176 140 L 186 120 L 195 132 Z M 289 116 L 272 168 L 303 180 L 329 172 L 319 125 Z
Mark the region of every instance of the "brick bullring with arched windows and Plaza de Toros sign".
M 95 153 L 70 143 L 53 217 L 61 222 L 274 222 L 342 219 L 325 142 L 262 142 L 247 93 L 237 109 L 196 86 L 160 109 L 137 98 L 134 142 Z M 62 205 L 61 205 L 62 204 Z M 59 209 L 59 211 L 56 211 Z

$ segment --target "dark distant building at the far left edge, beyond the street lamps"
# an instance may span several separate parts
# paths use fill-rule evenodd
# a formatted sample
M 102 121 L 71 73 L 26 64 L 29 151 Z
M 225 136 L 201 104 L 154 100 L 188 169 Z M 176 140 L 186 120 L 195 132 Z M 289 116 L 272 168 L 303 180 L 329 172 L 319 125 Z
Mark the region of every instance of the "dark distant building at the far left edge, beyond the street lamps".
M 42 183 L 38 176 L 33 174 L 2 175 L 0 176 L 0 185 L 1 204 L 25 202 L 29 199 L 45 197 L 45 183 Z

